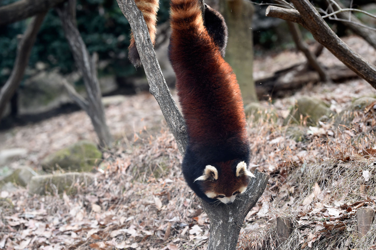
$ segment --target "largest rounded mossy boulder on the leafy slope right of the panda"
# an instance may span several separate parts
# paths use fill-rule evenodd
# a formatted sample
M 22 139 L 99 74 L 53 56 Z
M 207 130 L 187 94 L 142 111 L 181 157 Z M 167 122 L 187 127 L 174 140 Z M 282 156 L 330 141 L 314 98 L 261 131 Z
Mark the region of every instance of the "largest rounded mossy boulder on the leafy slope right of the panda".
M 303 96 L 291 107 L 290 114 L 284 120 L 284 125 L 289 123 L 301 124 L 306 119 L 307 126 L 316 126 L 318 121 L 327 120 L 334 112 L 320 99 Z M 303 120 L 301 120 L 303 119 Z

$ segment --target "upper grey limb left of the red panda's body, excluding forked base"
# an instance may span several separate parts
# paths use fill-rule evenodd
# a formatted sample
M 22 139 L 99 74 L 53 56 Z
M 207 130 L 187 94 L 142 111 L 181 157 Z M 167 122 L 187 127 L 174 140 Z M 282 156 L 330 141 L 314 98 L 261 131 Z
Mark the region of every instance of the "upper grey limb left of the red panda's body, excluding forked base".
M 162 75 L 143 14 L 133 0 L 117 0 L 117 2 L 132 28 L 136 47 L 149 82 L 150 93 L 161 107 L 168 127 L 175 137 L 177 147 L 184 156 L 187 141 L 185 122 Z

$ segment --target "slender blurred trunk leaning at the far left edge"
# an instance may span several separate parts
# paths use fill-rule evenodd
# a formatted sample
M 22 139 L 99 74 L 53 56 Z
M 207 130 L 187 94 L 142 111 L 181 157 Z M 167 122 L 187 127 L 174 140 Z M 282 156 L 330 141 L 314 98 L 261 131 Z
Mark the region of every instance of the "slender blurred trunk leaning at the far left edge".
M 0 90 L 0 119 L 5 111 L 6 104 L 18 89 L 18 86 L 20 86 L 25 69 L 29 64 L 31 49 L 33 48 L 36 35 L 38 34 L 39 28 L 43 23 L 46 13 L 47 12 L 42 12 L 34 17 L 30 24 L 27 26 L 24 35 L 20 39 L 12 73 L 6 81 L 5 85 Z

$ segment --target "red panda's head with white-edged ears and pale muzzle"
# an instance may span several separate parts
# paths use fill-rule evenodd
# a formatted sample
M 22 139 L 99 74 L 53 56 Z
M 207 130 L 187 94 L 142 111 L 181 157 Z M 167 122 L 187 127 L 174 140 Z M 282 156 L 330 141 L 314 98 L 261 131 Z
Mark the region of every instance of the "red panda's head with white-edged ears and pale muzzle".
M 255 177 L 244 161 L 236 160 L 207 165 L 202 176 L 194 181 L 201 181 L 203 193 L 211 199 L 218 199 L 225 204 L 232 203 L 237 194 L 246 191 L 250 179 Z

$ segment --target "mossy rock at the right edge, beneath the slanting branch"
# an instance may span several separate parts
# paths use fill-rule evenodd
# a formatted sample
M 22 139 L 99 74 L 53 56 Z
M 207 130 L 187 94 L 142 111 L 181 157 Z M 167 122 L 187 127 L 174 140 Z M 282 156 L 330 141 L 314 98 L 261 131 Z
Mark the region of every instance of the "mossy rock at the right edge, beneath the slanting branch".
M 344 108 L 340 113 L 336 114 L 333 117 L 334 126 L 343 128 L 340 125 L 350 126 L 352 120 L 355 117 L 356 113 L 362 112 L 365 107 L 375 102 L 376 98 L 364 96 L 358 98 L 352 102 L 348 107 Z

